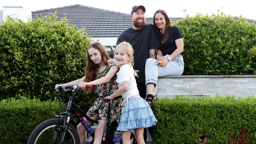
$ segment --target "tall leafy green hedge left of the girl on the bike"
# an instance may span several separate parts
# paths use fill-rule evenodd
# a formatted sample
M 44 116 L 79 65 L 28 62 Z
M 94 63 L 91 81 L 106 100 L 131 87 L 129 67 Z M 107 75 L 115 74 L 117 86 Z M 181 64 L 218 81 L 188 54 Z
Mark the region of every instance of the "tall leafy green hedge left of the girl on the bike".
M 91 39 L 66 18 L 56 19 L 8 17 L 0 24 L 0 100 L 49 100 L 55 84 L 82 78 Z

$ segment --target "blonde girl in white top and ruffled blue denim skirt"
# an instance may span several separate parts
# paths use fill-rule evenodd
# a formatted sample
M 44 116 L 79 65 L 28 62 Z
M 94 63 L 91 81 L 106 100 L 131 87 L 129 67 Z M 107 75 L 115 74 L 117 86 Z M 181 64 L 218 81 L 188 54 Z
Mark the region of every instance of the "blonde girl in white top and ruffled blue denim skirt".
M 122 95 L 124 101 L 122 102 L 123 111 L 118 131 L 122 131 L 123 144 L 131 143 L 130 135 L 135 131 L 135 139 L 138 144 L 145 144 L 143 139 L 143 131 L 145 127 L 156 125 L 156 118 L 148 103 L 139 96 L 139 90 L 135 76 L 137 72 L 134 71 L 133 48 L 128 42 L 121 42 L 115 48 L 115 63 L 120 66 L 117 73 L 116 90 L 106 98 L 112 100 L 113 98 Z

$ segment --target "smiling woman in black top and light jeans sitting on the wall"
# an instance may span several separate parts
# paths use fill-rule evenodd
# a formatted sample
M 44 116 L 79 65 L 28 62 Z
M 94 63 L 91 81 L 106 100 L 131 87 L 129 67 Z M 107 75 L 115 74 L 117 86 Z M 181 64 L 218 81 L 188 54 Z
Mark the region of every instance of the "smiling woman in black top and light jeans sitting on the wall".
M 157 49 L 157 59 L 147 59 L 145 66 L 146 101 L 150 105 L 156 97 L 158 77 L 181 75 L 184 70 L 183 57 L 180 55 L 183 52 L 184 42 L 180 29 L 171 26 L 170 19 L 163 10 L 155 12 L 153 22 L 158 33 L 160 48 Z

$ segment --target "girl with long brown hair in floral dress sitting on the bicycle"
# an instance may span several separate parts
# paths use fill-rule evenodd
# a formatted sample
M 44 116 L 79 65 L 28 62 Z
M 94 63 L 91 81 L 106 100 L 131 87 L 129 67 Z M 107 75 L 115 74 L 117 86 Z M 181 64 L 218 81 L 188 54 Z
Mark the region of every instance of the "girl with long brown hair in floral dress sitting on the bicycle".
M 94 144 L 101 144 L 102 136 L 106 127 L 108 104 L 103 102 L 105 96 L 109 96 L 117 90 L 117 71 L 118 68 L 114 64 L 107 64 L 109 55 L 105 48 L 99 42 L 93 42 L 87 49 L 87 66 L 85 76 L 81 79 L 62 84 L 64 87 L 71 87 L 78 85 L 81 89 L 85 89 L 85 85 L 96 85 L 90 89 L 98 94 L 97 100 L 93 103 L 87 115 L 93 120 L 99 120 L 98 126 L 95 130 Z M 55 89 L 58 85 L 55 86 Z M 112 101 L 110 123 L 119 122 L 121 118 L 122 98 Z M 91 125 L 91 122 L 85 121 Z M 80 143 L 85 144 L 85 128 L 80 123 L 77 126 Z

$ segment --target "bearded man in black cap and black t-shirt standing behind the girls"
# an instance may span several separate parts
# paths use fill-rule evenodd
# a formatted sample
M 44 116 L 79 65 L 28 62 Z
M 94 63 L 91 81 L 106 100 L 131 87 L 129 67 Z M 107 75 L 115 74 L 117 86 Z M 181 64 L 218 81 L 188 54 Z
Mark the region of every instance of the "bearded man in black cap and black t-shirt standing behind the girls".
M 129 42 L 134 48 L 134 70 L 139 70 L 136 77 L 139 95 L 145 99 L 145 63 L 147 58 L 156 59 L 155 49 L 159 48 L 157 33 L 152 24 L 146 24 L 145 7 L 136 5 L 132 7 L 132 27 L 123 31 L 118 39 L 117 45 L 123 41 Z

